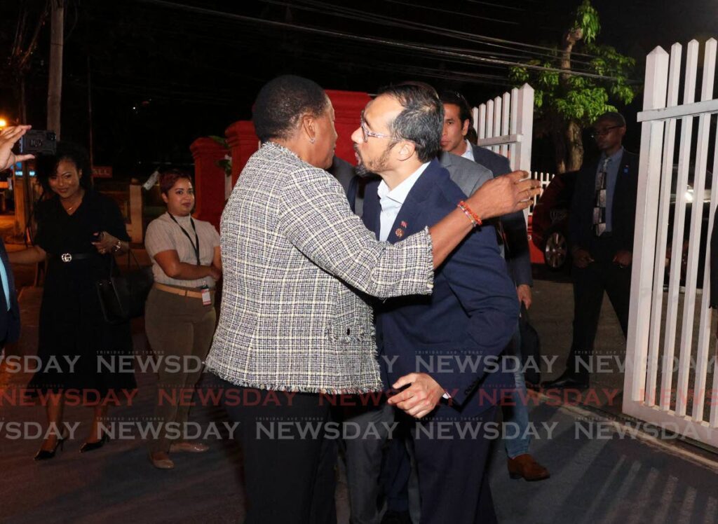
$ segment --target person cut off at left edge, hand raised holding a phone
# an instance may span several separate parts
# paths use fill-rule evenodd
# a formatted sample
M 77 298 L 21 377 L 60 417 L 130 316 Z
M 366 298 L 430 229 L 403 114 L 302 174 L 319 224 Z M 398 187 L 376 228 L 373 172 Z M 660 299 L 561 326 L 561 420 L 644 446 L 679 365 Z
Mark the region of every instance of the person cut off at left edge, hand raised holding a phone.
M 12 146 L 23 136 L 30 126 L 11 126 L 0 132 L 0 171 L 9 169 L 16 162 L 32 159 L 31 154 L 16 155 Z M 14 342 L 20 334 L 20 308 L 17 304 L 15 279 L 5 250 L 0 240 L 0 349 L 6 343 Z

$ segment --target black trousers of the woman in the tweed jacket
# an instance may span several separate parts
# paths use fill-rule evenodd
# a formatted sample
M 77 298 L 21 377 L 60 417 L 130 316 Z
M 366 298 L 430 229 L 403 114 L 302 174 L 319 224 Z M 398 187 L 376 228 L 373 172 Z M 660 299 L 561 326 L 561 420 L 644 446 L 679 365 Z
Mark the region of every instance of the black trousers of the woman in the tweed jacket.
M 335 524 L 336 439 L 325 438 L 330 406 L 319 395 L 240 388 L 226 381 L 224 407 L 239 423 L 246 524 Z M 228 390 L 238 390 L 230 402 Z

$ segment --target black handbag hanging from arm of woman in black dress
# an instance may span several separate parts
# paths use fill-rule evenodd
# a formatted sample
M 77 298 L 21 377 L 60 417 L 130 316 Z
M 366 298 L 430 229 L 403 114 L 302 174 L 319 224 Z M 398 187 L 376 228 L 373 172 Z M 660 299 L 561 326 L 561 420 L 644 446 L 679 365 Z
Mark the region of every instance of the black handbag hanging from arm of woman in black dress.
M 108 278 L 95 282 L 102 314 L 109 324 L 120 324 L 141 317 L 149 289 L 154 284 L 152 266 L 141 267 L 132 250 L 129 251 L 128 261 L 130 256 L 136 269 L 130 270 L 128 264 L 128 271 L 114 275 L 115 257 L 112 257 Z

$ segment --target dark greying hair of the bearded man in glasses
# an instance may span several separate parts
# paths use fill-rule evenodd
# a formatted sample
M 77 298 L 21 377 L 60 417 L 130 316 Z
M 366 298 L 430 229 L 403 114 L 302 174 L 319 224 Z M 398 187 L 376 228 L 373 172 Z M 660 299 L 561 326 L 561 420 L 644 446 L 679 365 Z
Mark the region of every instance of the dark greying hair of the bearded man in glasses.
M 437 156 L 444 126 L 444 106 L 437 93 L 421 85 L 404 83 L 383 88 L 379 94 L 396 98 L 404 108 L 389 123 L 391 134 L 414 142 L 421 162 Z

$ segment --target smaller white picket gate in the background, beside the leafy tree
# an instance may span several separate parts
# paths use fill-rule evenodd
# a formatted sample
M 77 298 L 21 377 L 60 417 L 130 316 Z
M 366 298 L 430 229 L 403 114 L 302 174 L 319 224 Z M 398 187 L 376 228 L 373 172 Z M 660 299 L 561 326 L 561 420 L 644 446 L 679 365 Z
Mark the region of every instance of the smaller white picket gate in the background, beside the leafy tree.
M 508 157 L 511 169 L 531 172 L 533 88 L 524 84 L 472 109 L 477 144 Z

